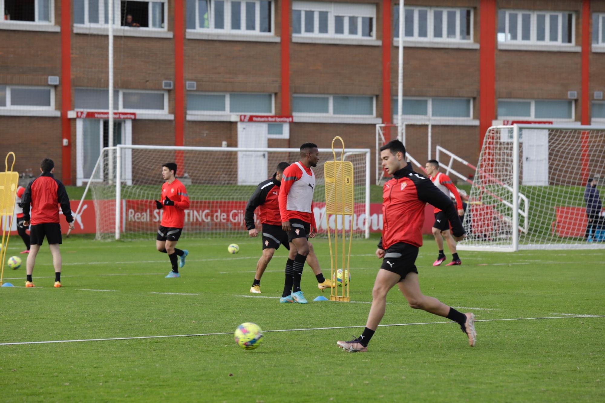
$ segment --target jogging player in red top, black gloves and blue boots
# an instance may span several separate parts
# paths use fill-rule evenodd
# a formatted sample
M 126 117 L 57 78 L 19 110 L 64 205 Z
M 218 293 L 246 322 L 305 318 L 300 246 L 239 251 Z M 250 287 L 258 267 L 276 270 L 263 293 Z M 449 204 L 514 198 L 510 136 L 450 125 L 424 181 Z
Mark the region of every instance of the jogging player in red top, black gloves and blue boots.
M 174 162 L 162 165 L 162 185 L 160 200 L 155 200 L 155 208 L 163 209 L 160 228 L 157 230 L 155 247 L 159 252 L 168 254 L 172 271 L 166 278 L 180 277 L 178 268 L 185 266 L 189 251 L 175 248 L 185 224 L 185 209 L 189 208 L 189 196 L 185 185 L 176 179 L 177 165 Z M 178 258 L 177 258 L 178 257 Z M 177 261 L 178 260 L 178 261 Z

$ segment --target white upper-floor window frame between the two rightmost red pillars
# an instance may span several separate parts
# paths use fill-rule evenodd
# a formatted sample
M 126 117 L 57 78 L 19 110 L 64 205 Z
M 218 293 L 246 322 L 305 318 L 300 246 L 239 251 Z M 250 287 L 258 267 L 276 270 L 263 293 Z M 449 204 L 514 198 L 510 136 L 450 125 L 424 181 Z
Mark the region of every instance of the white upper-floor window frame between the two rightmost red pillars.
M 559 45 L 559 46 L 575 46 L 575 24 L 576 24 L 576 13 L 575 11 L 535 11 L 535 10 L 515 10 L 515 9 L 501 9 L 499 11 L 506 12 L 505 18 L 505 40 L 500 41 L 498 37 L 499 33 L 496 27 L 496 39 L 499 44 L 528 44 L 528 45 Z M 531 18 L 529 20 L 529 24 L 531 25 L 531 29 L 529 30 L 529 41 L 523 40 L 522 38 L 522 23 L 517 24 L 517 39 L 506 39 L 509 36 L 509 13 L 517 13 L 517 15 L 529 14 Z M 538 14 L 545 15 L 545 40 L 538 41 Z M 563 16 L 571 14 L 572 18 L 572 30 L 571 30 L 571 42 L 563 42 Z M 550 28 L 551 28 L 551 15 L 558 16 L 558 33 L 557 33 L 557 41 L 550 40 Z

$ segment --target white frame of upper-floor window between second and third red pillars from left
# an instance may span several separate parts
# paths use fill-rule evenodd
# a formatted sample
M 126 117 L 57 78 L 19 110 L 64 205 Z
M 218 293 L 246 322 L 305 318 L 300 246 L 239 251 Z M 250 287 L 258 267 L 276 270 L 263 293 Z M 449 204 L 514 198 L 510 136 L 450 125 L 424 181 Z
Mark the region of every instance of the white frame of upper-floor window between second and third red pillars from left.
M 210 0 L 209 10 L 209 28 L 200 27 L 200 13 L 199 13 L 199 2 L 195 0 L 195 29 L 187 28 L 189 32 L 204 32 L 204 33 L 217 33 L 217 34 L 239 34 L 239 35 L 260 35 L 260 36 L 275 36 L 275 0 L 269 0 L 271 3 L 271 31 L 261 32 L 261 7 L 260 0 L 235 0 L 240 1 L 241 10 L 241 27 L 242 29 L 234 30 L 231 28 L 231 3 L 233 0 L 223 0 L 224 2 L 224 28 L 214 28 L 214 18 L 212 18 L 212 10 L 214 10 L 215 0 Z M 255 7 L 255 29 L 246 29 L 246 2 L 253 2 L 256 4 Z M 187 11 L 189 12 L 189 10 Z

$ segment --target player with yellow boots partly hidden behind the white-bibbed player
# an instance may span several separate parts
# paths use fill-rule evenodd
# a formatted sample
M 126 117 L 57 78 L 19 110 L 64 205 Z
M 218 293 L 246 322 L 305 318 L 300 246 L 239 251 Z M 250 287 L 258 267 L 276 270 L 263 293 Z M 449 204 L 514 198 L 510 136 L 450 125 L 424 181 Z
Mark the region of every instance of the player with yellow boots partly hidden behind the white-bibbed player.
M 244 221 L 246 222 L 248 235 L 252 238 L 258 235 L 254 224 L 254 211 L 257 207 L 260 208 L 259 215 L 261 223 L 263 223 L 263 254 L 258 259 L 257 272 L 254 275 L 252 287 L 250 287 L 250 292 L 252 293 L 261 293 L 261 277 L 263 277 L 267 264 L 269 264 L 273 254 L 275 254 L 275 249 L 279 249 L 280 245 L 283 244 L 286 249 L 290 250 L 288 234 L 281 229 L 280 203 L 278 201 L 283 172 L 289 165 L 287 162 L 280 162 L 273 177 L 258 184 L 257 189 L 246 205 Z M 290 256 L 290 259 L 294 259 L 295 257 L 296 255 Z M 309 263 L 313 274 L 317 278 L 317 287 L 320 290 L 333 287 L 332 281 L 325 279 L 321 273 L 319 262 L 315 256 L 315 252 L 313 252 L 311 243 L 309 243 L 307 263 Z

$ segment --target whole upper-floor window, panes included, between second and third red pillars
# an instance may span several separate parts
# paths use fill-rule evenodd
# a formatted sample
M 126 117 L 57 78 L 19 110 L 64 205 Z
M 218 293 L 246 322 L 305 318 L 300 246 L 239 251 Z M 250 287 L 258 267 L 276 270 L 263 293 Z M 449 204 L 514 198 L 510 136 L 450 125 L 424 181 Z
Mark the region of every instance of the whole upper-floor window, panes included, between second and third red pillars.
M 217 33 L 272 33 L 272 1 L 187 0 L 187 29 Z

